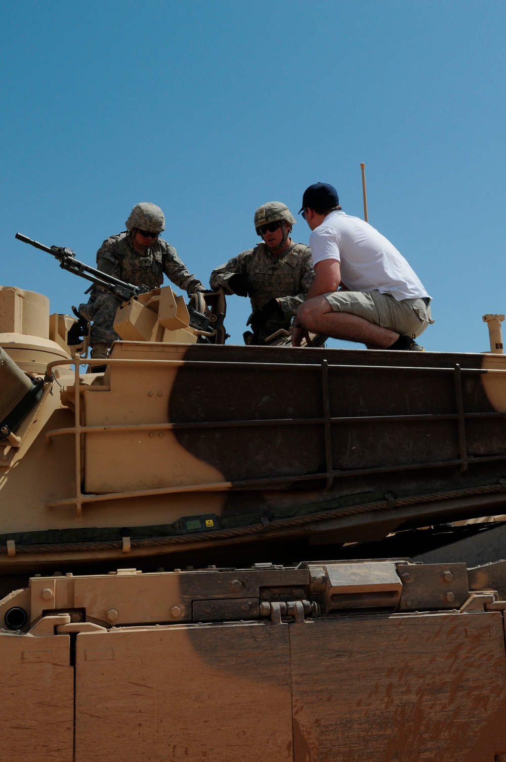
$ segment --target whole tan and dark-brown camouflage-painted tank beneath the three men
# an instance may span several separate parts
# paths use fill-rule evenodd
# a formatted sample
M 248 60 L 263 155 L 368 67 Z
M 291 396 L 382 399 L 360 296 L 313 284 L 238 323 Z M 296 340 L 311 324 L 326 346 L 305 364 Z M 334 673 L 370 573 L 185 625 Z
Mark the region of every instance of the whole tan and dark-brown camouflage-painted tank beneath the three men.
M 2 758 L 506 760 L 487 317 L 484 354 L 238 347 L 162 288 L 94 361 L 1 288 Z

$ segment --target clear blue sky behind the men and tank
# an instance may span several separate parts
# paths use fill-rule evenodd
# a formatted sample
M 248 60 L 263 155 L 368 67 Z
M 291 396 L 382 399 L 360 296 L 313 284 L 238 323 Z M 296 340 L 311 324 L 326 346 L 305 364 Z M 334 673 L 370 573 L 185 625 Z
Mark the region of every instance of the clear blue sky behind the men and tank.
M 330 182 L 362 216 L 366 162 L 369 222 L 434 297 L 421 343 L 483 351 L 506 311 L 505 38 L 504 0 L 7 0 L 0 283 L 69 312 L 85 281 L 14 233 L 94 264 L 149 200 L 207 284 L 268 200 L 296 214 Z M 228 306 L 242 343 L 248 302 Z

